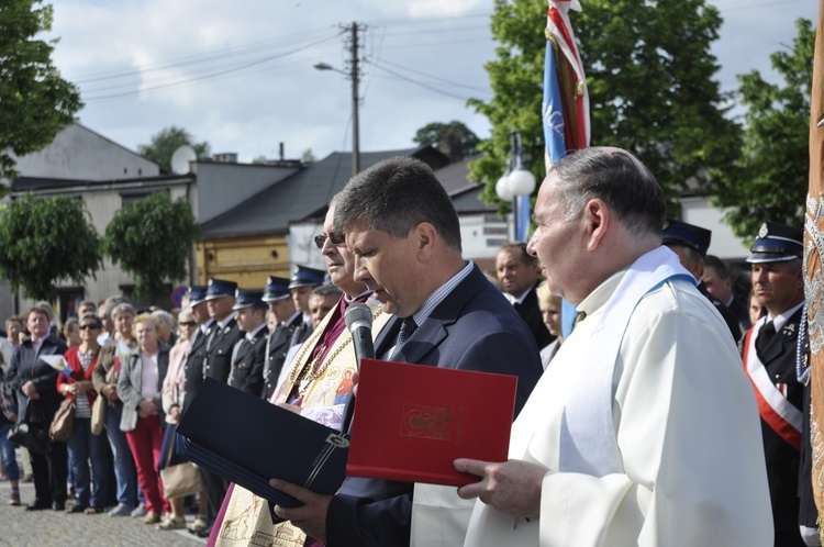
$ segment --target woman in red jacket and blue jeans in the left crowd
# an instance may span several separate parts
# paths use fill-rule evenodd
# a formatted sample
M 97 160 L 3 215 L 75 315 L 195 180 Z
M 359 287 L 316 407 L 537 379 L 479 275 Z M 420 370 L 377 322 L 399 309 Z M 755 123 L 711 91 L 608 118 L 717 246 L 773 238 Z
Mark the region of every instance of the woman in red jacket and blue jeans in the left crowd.
M 75 400 L 75 424 L 68 439 L 77 502 L 67 509 L 67 513 L 97 514 L 103 512 L 105 494 L 109 491 L 109 458 L 99 435 L 91 433 L 91 405 L 98 393 L 91 376 L 100 354 L 98 335 L 102 328 L 100 317 L 86 313 L 80 317 L 78 332 L 80 345 L 66 351 L 66 362 L 71 368 L 71 376 L 57 377 L 57 391 L 66 399 Z M 89 485 L 89 460 L 91 460 L 92 488 Z

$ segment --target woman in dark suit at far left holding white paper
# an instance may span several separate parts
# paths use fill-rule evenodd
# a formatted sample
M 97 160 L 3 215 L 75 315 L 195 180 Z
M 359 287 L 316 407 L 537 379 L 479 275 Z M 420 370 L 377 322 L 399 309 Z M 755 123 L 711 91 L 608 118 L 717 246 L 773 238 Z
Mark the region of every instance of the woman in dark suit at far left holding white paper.
M 41 357 L 63 355 L 68 347 L 51 333 L 49 312 L 44 308 L 31 309 L 26 327 L 31 336 L 12 355 L 8 382 L 18 397 L 18 420 L 37 424 L 47 431 L 63 398 L 57 393 L 59 372 Z M 63 511 L 66 505 L 66 443 L 49 444 L 47 455 L 29 450 L 34 473 L 34 502 L 26 505 L 29 511 Z

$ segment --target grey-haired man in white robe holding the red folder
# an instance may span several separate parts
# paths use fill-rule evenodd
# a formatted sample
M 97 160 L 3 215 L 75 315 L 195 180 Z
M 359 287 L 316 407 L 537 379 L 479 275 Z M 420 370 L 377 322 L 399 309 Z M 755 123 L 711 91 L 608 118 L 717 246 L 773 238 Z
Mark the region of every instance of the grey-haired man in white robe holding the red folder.
M 641 161 L 587 148 L 538 192 L 528 250 L 581 321 L 480 477 L 466 546 L 767 546 L 755 398 L 721 316 L 661 246 Z M 700 341 L 697 343 L 695 341 Z

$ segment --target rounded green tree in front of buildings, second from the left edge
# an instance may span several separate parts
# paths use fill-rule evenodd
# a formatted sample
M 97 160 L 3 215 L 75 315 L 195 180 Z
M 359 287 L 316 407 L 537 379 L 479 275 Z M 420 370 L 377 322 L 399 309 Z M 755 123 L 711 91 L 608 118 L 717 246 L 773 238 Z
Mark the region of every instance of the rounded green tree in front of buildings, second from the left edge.
M 105 227 L 103 253 L 135 278 L 135 292 L 156 303 L 164 280 L 187 275 L 192 245 L 200 239 L 189 202 L 156 192 L 120 209 Z

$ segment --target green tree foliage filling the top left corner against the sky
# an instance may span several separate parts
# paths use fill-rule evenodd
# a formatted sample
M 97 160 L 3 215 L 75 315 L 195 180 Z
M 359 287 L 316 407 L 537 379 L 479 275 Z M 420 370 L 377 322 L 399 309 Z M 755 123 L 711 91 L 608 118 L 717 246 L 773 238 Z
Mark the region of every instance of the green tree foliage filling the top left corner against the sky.
M 18 176 L 12 154 L 42 149 L 83 105 L 78 88 L 52 65 L 57 40 L 35 38 L 52 30 L 54 11 L 38 3 L 0 2 L 0 178 Z

